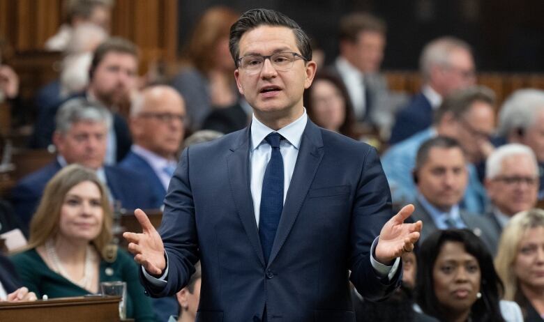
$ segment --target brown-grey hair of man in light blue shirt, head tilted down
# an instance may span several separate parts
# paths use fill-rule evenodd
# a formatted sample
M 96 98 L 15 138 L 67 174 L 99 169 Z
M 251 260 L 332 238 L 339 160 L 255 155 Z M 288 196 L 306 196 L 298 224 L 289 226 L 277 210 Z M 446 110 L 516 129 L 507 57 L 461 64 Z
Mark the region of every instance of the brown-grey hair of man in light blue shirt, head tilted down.
M 489 105 L 495 105 L 495 94 L 486 86 L 471 86 L 467 89 L 454 91 L 444 98 L 444 101 L 433 114 L 433 124 L 438 124 L 444 117 L 444 114 L 450 112 L 453 117 L 459 119 L 466 113 L 474 102 L 486 102 Z

